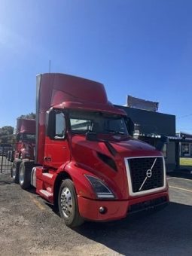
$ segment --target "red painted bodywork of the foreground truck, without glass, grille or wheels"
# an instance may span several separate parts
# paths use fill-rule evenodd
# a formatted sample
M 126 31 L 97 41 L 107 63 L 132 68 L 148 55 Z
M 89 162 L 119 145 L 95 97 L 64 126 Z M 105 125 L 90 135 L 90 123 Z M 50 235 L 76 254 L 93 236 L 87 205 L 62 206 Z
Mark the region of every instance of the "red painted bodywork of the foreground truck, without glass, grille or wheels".
M 37 134 L 36 134 L 36 192 L 56 203 L 56 194 L 63 177 L 71 178 L 78 195 L 78 208 L 83 218 L 95 221 L 109 221 L 123 218 L 130 206 L 159 197 L 169 200 L 167 184 L 162 190 L 139 196 L 131 196 L 127 181 L 125 157 L 161 157 L 151 145 L 130 136 L 113 134 L 99 135 L 99 139 L 110 142 L 117 154 L 113 155 L 102 141 L 89 141 L 85 135 L 73 134 L 69 127 L 66 139 L 55 140 L 46 136 L 46 111 L 50 108 L 60 111 L 71 109 L 100 111 L 118 114 L 126 113 L 108 102 L 102 84 L 62 74 L 43 74 L 37 77 Z M 67 119 L 67 117 L 66 117 Z M 69 120 L 66 120 L 68 122 Z M 117 170 L 111 168 L 98 157 L 101 153 L 116 163 Z M 114 194 L 113 200 L 99 200 L 85 175 L 103 181 Z M 43 193 L 42 191 L 47 191 Z M 99 207 L 105 206 L 105 214 Z

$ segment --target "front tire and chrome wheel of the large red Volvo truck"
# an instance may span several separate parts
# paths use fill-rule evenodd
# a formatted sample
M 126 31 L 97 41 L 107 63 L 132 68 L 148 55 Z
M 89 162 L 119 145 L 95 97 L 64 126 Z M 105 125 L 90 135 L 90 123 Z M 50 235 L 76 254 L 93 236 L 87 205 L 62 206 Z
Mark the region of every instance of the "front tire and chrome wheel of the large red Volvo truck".
M 66 226 L 78 227 L 84 223 L 78 211 L 78 200 L 73 181 L 66 179 L 59 187 L 58 195 L 59 214 Z

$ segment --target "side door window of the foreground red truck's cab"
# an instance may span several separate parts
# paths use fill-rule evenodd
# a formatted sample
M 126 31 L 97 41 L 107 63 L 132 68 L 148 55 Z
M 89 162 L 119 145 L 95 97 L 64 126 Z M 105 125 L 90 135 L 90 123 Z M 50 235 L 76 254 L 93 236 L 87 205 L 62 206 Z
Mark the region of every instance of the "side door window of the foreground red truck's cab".
M 62 112 L 56 112 L 55 139 L 63 139 L 66 133 L 66 120 Z

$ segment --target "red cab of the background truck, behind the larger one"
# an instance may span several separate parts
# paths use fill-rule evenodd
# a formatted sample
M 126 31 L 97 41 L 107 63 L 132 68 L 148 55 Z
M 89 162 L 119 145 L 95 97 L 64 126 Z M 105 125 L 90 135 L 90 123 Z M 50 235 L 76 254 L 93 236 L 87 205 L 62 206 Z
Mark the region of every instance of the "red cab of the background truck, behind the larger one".
M 17 142 L 14 158 L 34 160 L 35 120 L 17 119 Z

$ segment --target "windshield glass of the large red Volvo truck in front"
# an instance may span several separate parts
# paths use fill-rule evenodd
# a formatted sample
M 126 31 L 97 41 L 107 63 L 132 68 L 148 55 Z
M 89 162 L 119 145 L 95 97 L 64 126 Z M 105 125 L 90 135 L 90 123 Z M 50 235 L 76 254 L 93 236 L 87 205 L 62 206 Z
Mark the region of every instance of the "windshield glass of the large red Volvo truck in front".
M 91 111 L 69 111 L 73 133 L 105 133 L 128 135 L 125 118 L 117 114 Z

